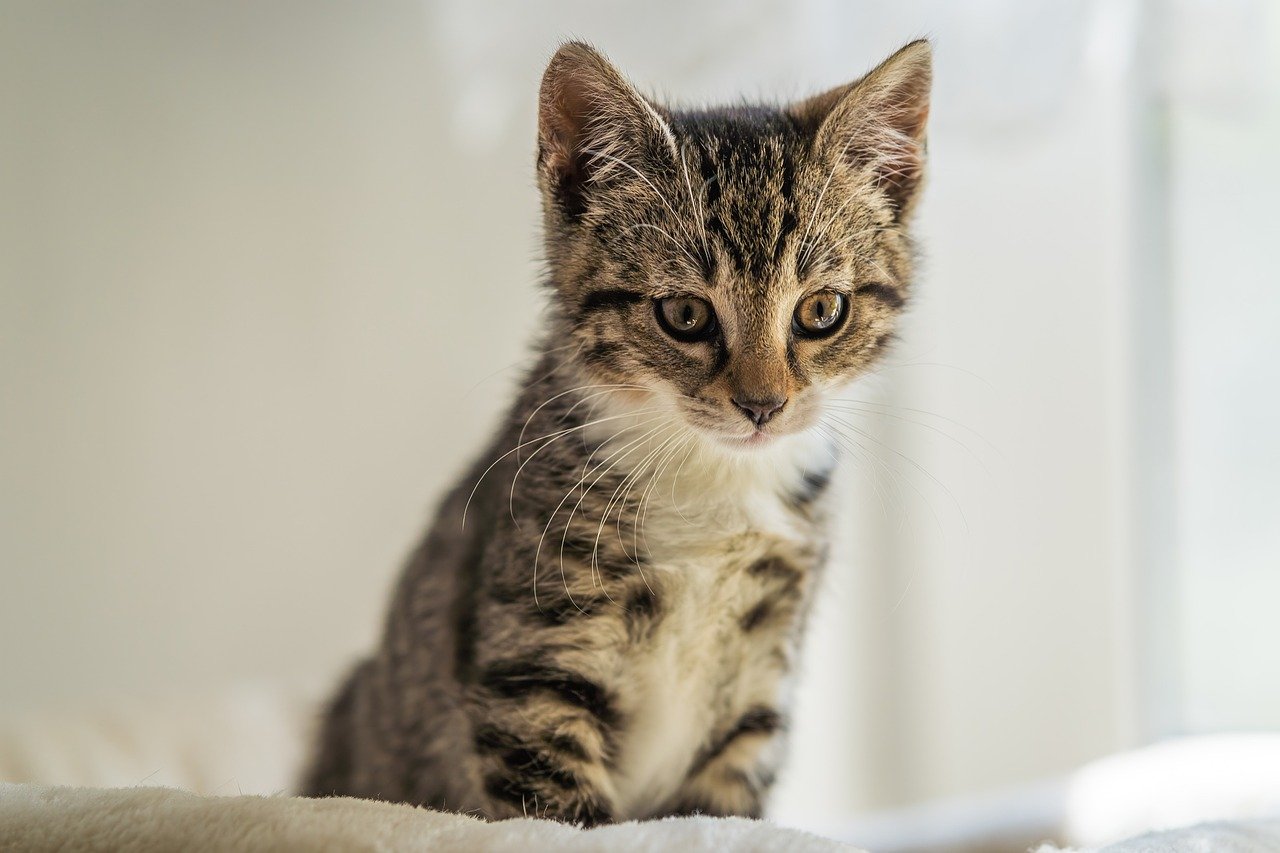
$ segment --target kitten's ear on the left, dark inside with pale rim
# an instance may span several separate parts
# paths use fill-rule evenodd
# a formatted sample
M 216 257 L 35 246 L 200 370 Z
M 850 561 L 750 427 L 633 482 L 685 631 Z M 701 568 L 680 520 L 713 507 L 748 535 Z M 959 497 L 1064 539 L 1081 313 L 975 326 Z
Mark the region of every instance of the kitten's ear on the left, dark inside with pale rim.
M 593 184 L 675 156 L 675 137 L 658 109 L 582 42 L 556 51 L 538 106 L 539 175 L 570 218 L 586 211 Z

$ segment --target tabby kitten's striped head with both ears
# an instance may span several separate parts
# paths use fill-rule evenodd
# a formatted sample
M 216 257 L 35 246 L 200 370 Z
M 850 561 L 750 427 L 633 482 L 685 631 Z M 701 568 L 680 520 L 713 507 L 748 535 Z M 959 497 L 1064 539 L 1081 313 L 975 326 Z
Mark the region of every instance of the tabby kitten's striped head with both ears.
M 630 386 L 728 446 L 812 426 L 906 298 L 929 81 L 916 41 L 797 104 L 682 111 L 591 47 L 561 47 L 538 170 L 588 382 Z

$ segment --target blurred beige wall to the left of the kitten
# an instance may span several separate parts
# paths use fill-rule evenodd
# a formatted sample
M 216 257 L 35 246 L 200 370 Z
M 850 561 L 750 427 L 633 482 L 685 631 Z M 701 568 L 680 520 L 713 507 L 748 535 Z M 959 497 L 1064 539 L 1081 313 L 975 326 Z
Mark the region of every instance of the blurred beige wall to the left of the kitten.
M 527 145 L 415 4 L 5 15 L 0 701 L 328 678 L 521 357 Z

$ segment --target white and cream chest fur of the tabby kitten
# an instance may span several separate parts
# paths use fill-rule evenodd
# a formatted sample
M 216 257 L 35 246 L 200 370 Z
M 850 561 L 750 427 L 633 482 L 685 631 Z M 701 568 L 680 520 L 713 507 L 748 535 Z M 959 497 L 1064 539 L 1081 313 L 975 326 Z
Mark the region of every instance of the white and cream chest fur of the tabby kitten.
M 829 467 L 827 448 L 797 435 L 753 455 L 690 456 L 654 489 L 644 537 L 646 573 L 663 617 L 628 672 L 632 721 L 616 776 L 620 816 L 660 808 L 717 726 L 754 706 L 776 707 L 786 671 L 772 651 L 788 625 L 748 635 L 742 613 L 760 597 L 750 566 L 812 544 L 788 496 L 806 470 Z

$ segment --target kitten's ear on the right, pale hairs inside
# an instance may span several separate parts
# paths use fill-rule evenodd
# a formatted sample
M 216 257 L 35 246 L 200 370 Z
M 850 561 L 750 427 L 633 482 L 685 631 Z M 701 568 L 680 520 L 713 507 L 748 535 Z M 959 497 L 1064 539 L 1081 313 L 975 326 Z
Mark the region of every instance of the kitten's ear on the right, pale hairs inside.
M 933 51 L 913 41 L 859 81 L 837 86 L 791 108 L 814 133 L 817 150 L 867 169 L 905 219 L 924 178 Z

